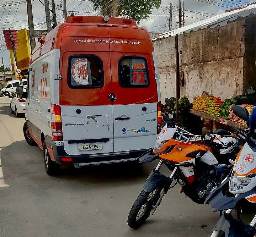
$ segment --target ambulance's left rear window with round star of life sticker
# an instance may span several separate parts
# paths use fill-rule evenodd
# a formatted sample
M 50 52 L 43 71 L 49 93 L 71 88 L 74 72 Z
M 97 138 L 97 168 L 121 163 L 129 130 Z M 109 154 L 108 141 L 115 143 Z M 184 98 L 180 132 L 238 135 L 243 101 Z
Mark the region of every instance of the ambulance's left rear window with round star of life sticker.
M 70 88 L 99 88 L 104 84 L 103 64 L 97 56 L 71 56 L 68 68 Z

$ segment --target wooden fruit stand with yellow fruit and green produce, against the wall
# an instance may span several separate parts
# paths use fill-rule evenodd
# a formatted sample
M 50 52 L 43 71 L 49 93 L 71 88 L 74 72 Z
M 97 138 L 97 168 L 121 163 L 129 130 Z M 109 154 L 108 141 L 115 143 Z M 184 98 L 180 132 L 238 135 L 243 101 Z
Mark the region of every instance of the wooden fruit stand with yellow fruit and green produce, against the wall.
M 211 121 L 211 130 L 225 126 L 234 126 L 245 129 L 246 121 L 240 119 L 233 113 L 232 105 L 240 105 L 251 114 L 255 104 L 255 94 L 237 95 L 233 100 L 215 97 L 203 92 L 201 96 L 194 97 L 191 114 Z

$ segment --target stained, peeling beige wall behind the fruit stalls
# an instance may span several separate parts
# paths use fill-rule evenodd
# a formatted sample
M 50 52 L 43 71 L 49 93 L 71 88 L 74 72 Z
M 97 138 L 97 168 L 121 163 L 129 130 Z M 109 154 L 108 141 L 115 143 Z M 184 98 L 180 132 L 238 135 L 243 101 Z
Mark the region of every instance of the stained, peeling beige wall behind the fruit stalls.
M 185 75 L 181 95 L 194 96 L 207 90 L 223 98 L 243 92 L 245 20 L 223 27 L 179 35 L 180 71 Z M 175 37 L 154 42 L 160 73 L 161 99 L 175 96 Z

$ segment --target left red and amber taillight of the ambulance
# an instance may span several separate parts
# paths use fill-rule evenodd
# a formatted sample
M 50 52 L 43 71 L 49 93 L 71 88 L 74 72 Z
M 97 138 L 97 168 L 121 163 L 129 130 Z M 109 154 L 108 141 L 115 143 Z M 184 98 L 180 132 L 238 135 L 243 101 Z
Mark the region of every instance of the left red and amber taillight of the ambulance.
M 60 106 L 51 104 L 51 125 L 52 125 L 52 136 L 55 141 L 62 141 L 62 123 L 61 123 L 61 113 Z

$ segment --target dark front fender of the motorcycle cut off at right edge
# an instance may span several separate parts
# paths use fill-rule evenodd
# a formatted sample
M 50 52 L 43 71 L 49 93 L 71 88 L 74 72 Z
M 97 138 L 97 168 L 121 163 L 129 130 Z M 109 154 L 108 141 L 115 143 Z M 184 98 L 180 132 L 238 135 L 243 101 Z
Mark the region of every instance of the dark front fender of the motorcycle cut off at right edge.
M 256 229 L 223 213 L 212 231 L 224 231 L 225 237 L 253 237 Z

